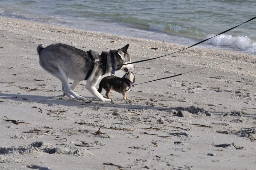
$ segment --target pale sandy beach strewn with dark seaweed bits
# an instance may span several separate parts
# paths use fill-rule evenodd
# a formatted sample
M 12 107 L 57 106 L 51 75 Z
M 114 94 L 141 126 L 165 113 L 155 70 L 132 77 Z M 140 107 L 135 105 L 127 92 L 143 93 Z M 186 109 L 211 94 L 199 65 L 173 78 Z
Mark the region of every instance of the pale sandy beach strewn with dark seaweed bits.
M 59 96 L 36 50 L 54 43 L 98 53 L 129 44 L 132 61 L 186 48 L 0 16 L 0 169 L 255 169 L 256 55 L 201 69 L 246 53 L 192 47 L 137 63 L 135 84 L 185 74 L 111 103 L 86 81 L 75 89 L 85 100 Z

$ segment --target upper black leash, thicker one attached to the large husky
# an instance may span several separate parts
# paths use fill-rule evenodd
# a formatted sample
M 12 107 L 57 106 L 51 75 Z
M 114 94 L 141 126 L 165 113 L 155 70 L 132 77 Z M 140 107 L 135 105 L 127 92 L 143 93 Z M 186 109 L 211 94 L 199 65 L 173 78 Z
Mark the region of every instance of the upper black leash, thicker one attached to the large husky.
M 249 21 L 251 21 L 251 20 L 254 20 L 255 18 L 256 18 L 256 17 L 253 17 L 252 19 L 250 19 L 250 20 L 248 20 L 248 21 L 245 21 L 244 23 L 249 22 Z M 242 23 L 242 24 L 244 24 L 244 23 Z M 235 26 L 235 27 L 233 27 L 233 28 L 227 29 L 226 31 L 223 31 L 223 32 L 219 33 L 219 34 L 216 35 L 216 36 L 219 36 L 219 35 L 221 35 L 221 34 L 224 34 L 224 33 L 228 32 L 228 31 L 230 31 L 230 30 L 232 30 L 232 29 L 234 29 L 234 28 L 236 28 L 236 27 L 238 27 L 238 26 L 240 26 L 240 25 L 242 25 L 242 24 L 239 24 L 239 25 L 237 25 L 237 26 Z M 213 37 L 215 37 L 215 36 L 213 36 Z M 184 48 L 184 49 L 182 49 L 182 50 L 176 51 L 176 52 L 174 52 L 174 53 L 178 53 L 178 52 L 180 52 L 180 51 L 186 50 L 186 49 L 188 49 L 188 48 L 190 48 L 190 47 L 193 47 L 193 46 L 195 46 L 195 45 L 201 44 L 201 43 L 203 43 L 203 42 L 205 42 L 205 41 L 207 41 L 207 40 L 209 40 L 209 39 L 211 39 L 211 38 L 213 38 L 213 37 L 210 37 L 210 38 L 208 38 L 208 39 L 206 39 L 206 40 L 200 41 L 199 43 L 196 43 L 196 44 L 194 44 L 194 45 L 191 45 L 191 46 L 189 46 L 189 47 L 187 47 L 187 48 Z M 154 59 L 158 59 L 158 58 L 161 58 L 161 57 L 165 57 L 165 56 L 168 56 L 168 55 L 171 55 L 171 54 L 174 54 L 174 53 L 166 54 L 166 55 L 163 55 L 163 56 L 160 56 L 160 57 L 151 58 L 151 59 L 140 60 L 140 61 L 134 61 L 134 62 L 127 63 L 127 64 L 135 64 L 135 63 L 138 63 L 138 62 L 144 62 L 144 61 L 154 60 Z M 127 65 L 127 64 L 120 64 L 120 65 L 116 65 L 116 66 L 122 66 L 122 65 Z M 110 66 L 110 67 L 111 67 L 111 66 Z

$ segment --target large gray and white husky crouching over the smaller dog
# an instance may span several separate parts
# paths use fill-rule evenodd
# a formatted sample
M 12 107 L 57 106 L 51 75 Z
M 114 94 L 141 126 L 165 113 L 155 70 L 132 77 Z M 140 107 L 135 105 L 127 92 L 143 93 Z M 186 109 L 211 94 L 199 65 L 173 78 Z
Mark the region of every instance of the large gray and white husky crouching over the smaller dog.
M 130 56 L 127 53 L 129 45 L 118 50 L 102 52 L 101 55 L 95 51 L 83 51 L 66 44 L 52 44 L 47 47 L 40 44 L 37 46 L 39 63 L 43 69 L 62 82 L 62 90 L 70 99 L 77 100 L 83 97 L 76 94 L 73 90 L 80 81 L 87 80 L 86 88 L 101 101 L 111 101 L 103 98 L 97 91 L 95 85 L 105 73 L 123 70 L 128 72 L 134 68 Z M 74 80 L 69 86 L 68 78 Z

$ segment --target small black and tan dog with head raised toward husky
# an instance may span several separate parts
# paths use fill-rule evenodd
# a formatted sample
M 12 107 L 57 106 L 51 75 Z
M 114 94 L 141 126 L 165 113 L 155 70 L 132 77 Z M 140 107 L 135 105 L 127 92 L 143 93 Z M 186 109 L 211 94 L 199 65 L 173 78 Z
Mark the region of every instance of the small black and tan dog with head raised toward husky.
M 118 93 L 123 94 L 124 100 L 130 100 L 130 98 L 126 96 L 126 93 L 130 91 L 131 87 L 134 87 L 134 82 L 135 76 L 131 71 L 125 73 L 125 75 L 122 78 L 116 76 L 107 76 L 101 80 L 98 92 L 101 93 L 102 88 L 105 89 L 106 96 L 108 99 L 110 99 L 109 93 L 111 90 L 114 90 Z

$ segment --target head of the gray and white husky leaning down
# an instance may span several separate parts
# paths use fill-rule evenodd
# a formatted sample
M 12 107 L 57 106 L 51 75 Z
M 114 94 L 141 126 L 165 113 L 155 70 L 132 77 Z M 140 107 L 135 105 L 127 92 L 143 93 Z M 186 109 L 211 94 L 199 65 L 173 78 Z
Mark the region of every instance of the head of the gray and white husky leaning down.
M 123 64 L 127 64 L 131 62 L 130 55 L 127 53 L 128 47 L 129 45 L 126 45 L 123 48 L 118 50 L 118 54 L 120 55 L 120 59 Z M 123 70 L 124 72 L 128 72 L 130 70 L 133 70 L 134 68 L 135 66 L 133 64 L 127 64 L 127 65 L 123 65 L 121 70 Z

